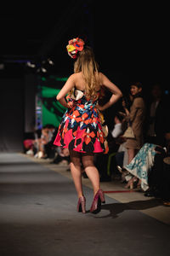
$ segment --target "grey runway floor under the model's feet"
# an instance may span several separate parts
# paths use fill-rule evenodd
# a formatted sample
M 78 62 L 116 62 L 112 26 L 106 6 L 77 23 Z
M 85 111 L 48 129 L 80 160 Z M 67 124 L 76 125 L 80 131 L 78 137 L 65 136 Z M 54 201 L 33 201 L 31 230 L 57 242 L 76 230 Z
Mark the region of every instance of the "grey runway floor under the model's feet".
M 106 204 L 99 214 L 77 212 L 77 194 L 67 166 L 25 154 L 0 154 L 0 255 L 145 256 L 170 252 L 170 207 L 101 183 Z M 83 178 L 87 210 L 93 200 Z

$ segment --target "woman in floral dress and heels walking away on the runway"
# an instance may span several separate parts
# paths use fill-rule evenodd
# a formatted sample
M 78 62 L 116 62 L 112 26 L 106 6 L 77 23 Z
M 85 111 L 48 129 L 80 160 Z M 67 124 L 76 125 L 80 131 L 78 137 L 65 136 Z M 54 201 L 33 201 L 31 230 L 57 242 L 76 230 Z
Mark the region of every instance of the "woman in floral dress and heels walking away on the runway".
M 109 149 L 105 131 L 102 129 L 100 111 L 117 102 L 122 97 L 122 92 L 103 73 L 99 73 L 93 49 L 84 44 L 81 38 L 70 40 L 66 49 L 71 58 L 75 59 L 74 73 L 56 96 L 57 101 L 67 110 L 59 125 L 54 145 L 69 148 L 71 175 L 78 195 L 77 211 L 86 212 L 86 199 L 82 192 L 83 165 L 94 188 L 94 201 L 90 212 L 97 213 L 100 211 L 101 202 L 105 203 L 105 196 L 100 189 L 94 154 L 106 154 Z M 98 104 L 101 86 L 105 86 L 112 93 L 104 106 Z

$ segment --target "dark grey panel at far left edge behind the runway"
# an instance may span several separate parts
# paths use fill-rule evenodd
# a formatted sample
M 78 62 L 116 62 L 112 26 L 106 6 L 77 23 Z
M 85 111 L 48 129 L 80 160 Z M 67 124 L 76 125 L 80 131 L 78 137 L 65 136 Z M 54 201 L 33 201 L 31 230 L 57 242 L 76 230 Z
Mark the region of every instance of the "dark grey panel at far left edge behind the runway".
M 0 151 L 23 150 L 24 78 L 0 79 Z

